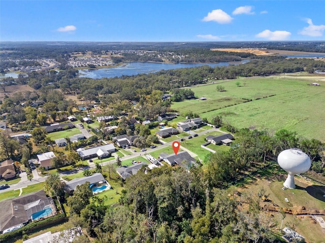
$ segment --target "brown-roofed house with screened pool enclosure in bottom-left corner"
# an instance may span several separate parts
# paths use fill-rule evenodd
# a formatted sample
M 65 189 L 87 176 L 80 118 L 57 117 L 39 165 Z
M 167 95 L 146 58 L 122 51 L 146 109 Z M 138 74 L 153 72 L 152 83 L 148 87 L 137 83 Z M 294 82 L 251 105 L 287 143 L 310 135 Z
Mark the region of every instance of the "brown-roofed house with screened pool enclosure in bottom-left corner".
M 47 197 L 44 190 L 32 192 L 27 195 L 14 197 L 1 202 L 0 232 L 7 233 L 21 228 L 32 220 L 40 220 L 56 215 L 56 208 L 52 197 Z M 38 218 L 39 212 L 47 210 Z

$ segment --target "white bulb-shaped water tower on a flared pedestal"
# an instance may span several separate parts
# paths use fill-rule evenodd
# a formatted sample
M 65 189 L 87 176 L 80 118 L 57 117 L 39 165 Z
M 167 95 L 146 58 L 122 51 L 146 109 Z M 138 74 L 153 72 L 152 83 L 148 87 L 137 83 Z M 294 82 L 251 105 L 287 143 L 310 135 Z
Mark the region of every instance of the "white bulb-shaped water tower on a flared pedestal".
M 310 169 L 310 157 L 298 148 L 290 148 L 283 150 L 278 156 L 279 166 L 288 173 L 283 183 L 284 187 L 294 189 L 295 175 L 305 173 Z

